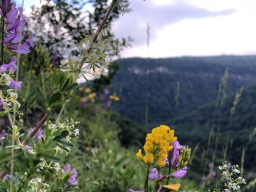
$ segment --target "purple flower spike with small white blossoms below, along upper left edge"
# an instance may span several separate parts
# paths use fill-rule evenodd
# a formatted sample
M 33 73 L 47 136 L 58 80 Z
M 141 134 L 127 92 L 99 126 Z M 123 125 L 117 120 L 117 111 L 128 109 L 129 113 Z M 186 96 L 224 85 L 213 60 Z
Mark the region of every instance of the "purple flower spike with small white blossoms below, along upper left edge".
M 4 63 L 4 47 L 8 48 L 11 52 L 20 54 L 27 54 L 30 52 L 29 48 L 34 47 L 32 41 L 33 35 L 31 34 L 24 43 L 21 41 L 25 38 L 24 25 L 26 17 L 23 15 L 23 9 L 16 7 L 16 4 L 10 4 L 10 0 L 1 1 L 0 3 L 0 16 L 2 19 L 2 41 L 1 41 L 1 65 L 0 65 L 0 85 L 7 85 L 12 90 L 7 91 L 7 96 L 0 90 L 0 105 L 4 104 L 5 113 L 20 108 L 20 104 L 16 99 L 18 96 L 14 93 L 13 89 L 21 89 L 21 81 L 16 82 L 13 80 L 16 71 L 16 56 L 14 55 L 10 63 Z

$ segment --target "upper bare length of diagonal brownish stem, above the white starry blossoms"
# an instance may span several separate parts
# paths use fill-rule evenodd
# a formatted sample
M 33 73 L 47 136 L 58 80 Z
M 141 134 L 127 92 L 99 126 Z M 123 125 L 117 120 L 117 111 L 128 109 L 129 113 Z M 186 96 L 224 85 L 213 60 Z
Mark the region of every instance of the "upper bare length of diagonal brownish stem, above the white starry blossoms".
M 89 48 L 87 49 L 87 51 L 85 52 L 85 57 L 80 61 L 79 65 L 78 65 L 78 71 L 80 71 L 84 65 L 84 63 L 86 62 L 86 60 L 88 59 L 88 56 L 90 55 L 91 53 L 91 49 L 93 49 L 93 44 L 96 42 L 99 34 L 101 33 L 101 30 L 103 29 L 105 23 L 107 22 L 107 18 L 108 16 L 110 15 L 110 13 L 112 12 L 113 8 L 115 7 L 115 4 L 116 4 L 117 0 L 113 0 L 106 15 L 104 16 L 104 19 L 102 20 L 102 23 L 101 25 L 99 26 L 96 34 L 94 35 L 93 37 L 93 40 L 91 41 L 91 44 L 89 46 Z

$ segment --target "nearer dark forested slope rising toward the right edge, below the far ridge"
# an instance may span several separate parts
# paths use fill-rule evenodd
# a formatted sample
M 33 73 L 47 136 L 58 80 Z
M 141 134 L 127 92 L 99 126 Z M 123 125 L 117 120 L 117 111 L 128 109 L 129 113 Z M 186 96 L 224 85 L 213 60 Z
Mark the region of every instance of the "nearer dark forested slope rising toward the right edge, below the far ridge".
M 219 101 L 165 123 L 175 127 L 176 134 L 182 135 L 183 142 L 190 146 L 198 143 L 201 150 L 206 149 L 210 142 L 210 148 L 216 147 L 219 157 L 223 157 L 226 150 L 227 157 L 235 163 L 241 162 L 244 149 L 244 166 L 253 170 L 256 165 L 256 84 L 241 92 L 238 104 L 230 113 L 234 98 L 235 94 L 229 96 L 222 107 Z M 209 141 L 211 129 L 213 132 Z

